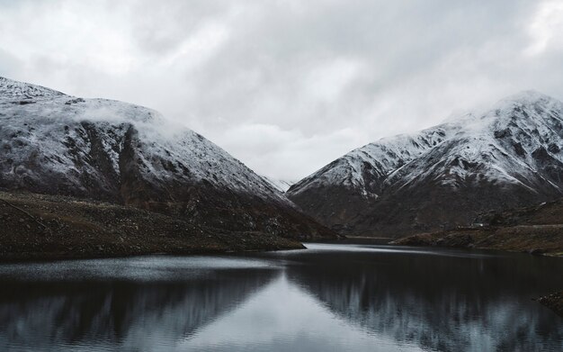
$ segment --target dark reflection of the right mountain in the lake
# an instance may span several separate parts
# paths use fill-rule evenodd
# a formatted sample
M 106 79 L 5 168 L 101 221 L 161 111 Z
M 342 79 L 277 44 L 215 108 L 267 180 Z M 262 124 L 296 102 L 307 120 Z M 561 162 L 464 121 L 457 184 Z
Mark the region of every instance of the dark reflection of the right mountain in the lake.
M 290 280 L 351 324 L 429 350 L 563 348 L 561 319 L 531 300 L 563 285 L 560 261 L 432 250 L 321 257 L 303 257 Z

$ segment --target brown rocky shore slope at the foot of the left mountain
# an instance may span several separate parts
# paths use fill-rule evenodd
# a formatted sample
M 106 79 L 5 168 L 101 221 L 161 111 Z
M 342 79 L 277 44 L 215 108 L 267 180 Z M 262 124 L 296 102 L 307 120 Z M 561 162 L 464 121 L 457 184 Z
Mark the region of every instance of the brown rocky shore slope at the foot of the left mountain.
M 299 239 L 205 227 L 112 203 L 0 192 L 0 261 L 298 248 Z

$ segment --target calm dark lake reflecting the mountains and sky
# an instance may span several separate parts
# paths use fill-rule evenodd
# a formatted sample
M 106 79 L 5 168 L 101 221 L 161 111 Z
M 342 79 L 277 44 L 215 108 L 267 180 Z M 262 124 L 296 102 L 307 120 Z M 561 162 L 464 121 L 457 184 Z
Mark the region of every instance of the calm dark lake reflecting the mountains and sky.
M 563 350 L 563 259 L 308 248 L 2 265 L 0 350 Z

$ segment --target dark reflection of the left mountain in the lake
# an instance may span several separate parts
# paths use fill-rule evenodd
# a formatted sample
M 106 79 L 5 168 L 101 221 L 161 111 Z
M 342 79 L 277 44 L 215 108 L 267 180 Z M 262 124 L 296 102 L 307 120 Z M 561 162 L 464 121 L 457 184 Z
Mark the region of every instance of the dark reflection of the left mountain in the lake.
M 178 263 L 157 258 L 164 261 L 160 269 L 170 266 L 174 275 L 153 283 L 147 279 L 154 277 L 155 267 L 146 266 L 153 259 L 134 260 L 139 262 L 131 266 L 130 260 L 113 259 L 115 270 L 109 270 L 104 281 L 94 261 L 67 263 L 85 268 L 87 280 L 82 282 L 76 281 L 80 272 L 66 279 L 57 274 L 65 263 L 31 266 L 23 281 L 10 277 L 12 271 L 0 271 L 9 276 L 0 292 L 0 350 L 169 350 L 280 275 L 279 270 L 248 270 L 244 260 L 228 260 L 235 268 L 210 263 L 213 270 L 188 271 L 178 281 Z M 188 264 L 197 267 L 201 260 Z M 127 266 L 130 270 L 124 269 Z M 39 282 L 31 282 L 33 271 Z M 124 280 L 125 272 L 133 279 Z M 46 281 L 50 277 L 58 280 Z

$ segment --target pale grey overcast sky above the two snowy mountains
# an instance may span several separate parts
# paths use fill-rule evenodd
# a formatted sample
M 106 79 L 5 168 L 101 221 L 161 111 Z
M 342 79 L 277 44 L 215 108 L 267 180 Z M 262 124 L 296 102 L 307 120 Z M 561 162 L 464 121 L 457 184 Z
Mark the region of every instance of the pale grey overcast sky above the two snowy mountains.
M 505 95 L 563 99 L 563 0 L 0 0 L 0 76 L 146 105 L 299 180 Z

